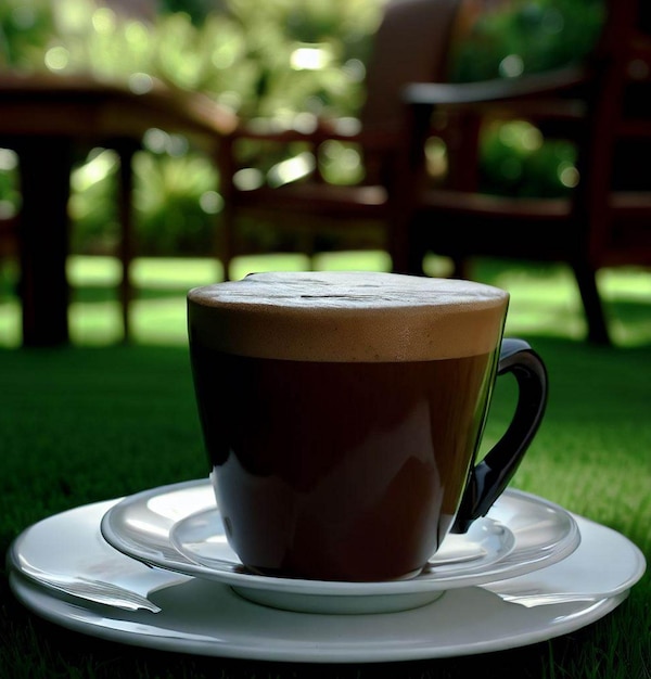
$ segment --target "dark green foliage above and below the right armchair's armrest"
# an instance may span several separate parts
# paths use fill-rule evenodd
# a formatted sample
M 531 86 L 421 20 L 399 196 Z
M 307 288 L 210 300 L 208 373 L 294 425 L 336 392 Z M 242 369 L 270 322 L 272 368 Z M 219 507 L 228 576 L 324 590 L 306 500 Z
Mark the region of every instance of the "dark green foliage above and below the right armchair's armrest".
M 463 82 L 541 73 L 580 61 L 599 37 L 603 0 L 465 0 L 450 62 Z M 482 190 L 558 196 L 577 181 L 567 141 L 544 141 L 532 125 L 511 121 L 484 130 Z

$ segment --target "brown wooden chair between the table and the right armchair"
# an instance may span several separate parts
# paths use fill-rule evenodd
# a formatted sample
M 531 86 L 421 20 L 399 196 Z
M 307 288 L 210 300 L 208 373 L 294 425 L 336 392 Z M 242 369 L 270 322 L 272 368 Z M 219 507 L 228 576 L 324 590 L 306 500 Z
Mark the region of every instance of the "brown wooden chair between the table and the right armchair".
M 366 103 L 359 130 L 347 132 L 334 121 L 320 121 L 309 132 L 295 129 L 259 131 L 245 121 L 221 139 L 218 156 L 220 191 L 225 198 L 221 258 L 228 277 L 232 257 L 239 252 L 238 230 L 253 218 L 261 232 L 272 225 L 307 236 L 303 249 L 311 254 L 314 239 L 334 230 L 335 238 L 386 248 L 394 268 L 397 260 L 391 225 L 395 162 L 403 141 L 400 91 L 410 81 L 435 81 L 444 77 L 450 33 L 459 0 L 390 0 L 374 36 L 367 65 Z M 365 164 L 365 179 L 355 185 L 334 185 L 323 180 L 318 156 L 328 141 L 357 144 Z M 280 187 L 245 189 L 238 184 L 242 166 L 238 146 L 243 142 L 307 144 L 315 158 L 315 171 L 299 181 Z M 369 230 L 372 232 L 369 240 Z

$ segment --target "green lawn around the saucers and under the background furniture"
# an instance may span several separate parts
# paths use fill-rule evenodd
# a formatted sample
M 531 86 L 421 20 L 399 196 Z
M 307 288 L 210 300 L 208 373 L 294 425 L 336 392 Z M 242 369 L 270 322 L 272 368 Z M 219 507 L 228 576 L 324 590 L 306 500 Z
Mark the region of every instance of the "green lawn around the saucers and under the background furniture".
M 304 260 L 243 259 L 238 274 L 303 268 Z M 321 260 L 382 268 L 381 256 Z M 435 270 L 445 262 L 433 261 Z M 73 259 L 74 345 L 16 349 L 15 300 L 0 293 L 0 549 L 39 518 L 95 500 L 206 474 L 184 336 L 184 294 L 220 277 L 208 260 L 139 260 L 136 341 L 122 345 L 111 260 Z M 507 334 L 545 358 L 545 423 L 513 485 L 620 530 L 651 559 L 651 274 L 608 271 L 600 283 L 614 347 L 580 341 L 584 321 L 560 267 L 486 262 L 482 280 L 507 287 Z M 510 417 L 498 383 L 486 446 Z M 616 556 L 616 555 L 613 555 Z M 28 613 L 0 578 L 0 677 L 644 679 L 651 677 L 651 576 L 603 619 L 523 649 L 392 665 L 307 666 L 220 661 L 133 649 L 75 635 Z

